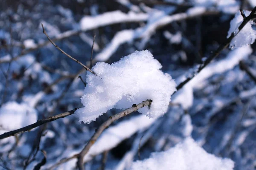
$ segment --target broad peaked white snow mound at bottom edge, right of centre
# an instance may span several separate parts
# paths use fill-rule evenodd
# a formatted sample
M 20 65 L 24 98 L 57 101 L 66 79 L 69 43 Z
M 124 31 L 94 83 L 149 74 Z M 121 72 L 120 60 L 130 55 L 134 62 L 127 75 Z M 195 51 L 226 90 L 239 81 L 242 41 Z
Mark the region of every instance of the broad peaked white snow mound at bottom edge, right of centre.
M 149 159 L 136 161 L 131 170 L 233 170 L 231 159 L 218 158 L 187 138 L 169 150 L 152 153 Z

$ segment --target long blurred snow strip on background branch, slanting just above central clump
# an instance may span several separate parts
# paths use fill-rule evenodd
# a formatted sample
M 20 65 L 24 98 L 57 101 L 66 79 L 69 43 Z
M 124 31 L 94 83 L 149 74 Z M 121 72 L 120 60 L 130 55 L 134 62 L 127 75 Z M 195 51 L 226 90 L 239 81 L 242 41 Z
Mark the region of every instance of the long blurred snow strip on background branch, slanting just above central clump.
M 189 8 L 187 12 L 173 14 L 171 16 L 166 15 L 163 11 L 154 11 L 148 20 L 148 23 L 140 28 L 135 30 L 122 30 L 116 33 L 111 42 L 99 53 L 96 55 L 95 59 L 97 61 L 106 61 L 109 59 L 119 48 L 120 45 L 125 42 L 131 42 L 136 39 L 142 39 L 145 37 L 151 37 L 151 35 L 157 29 L 166 26 L 172 22 L 185 20 L 192 17 L 198 17 L 204 14 L 218 14 L 219 11 L 208 10 L 204 7 L 201 7 L 200 11 L 192 10 L 198 9 L 198 7 Z M 194 11 L 194 12 L 193 12 Z

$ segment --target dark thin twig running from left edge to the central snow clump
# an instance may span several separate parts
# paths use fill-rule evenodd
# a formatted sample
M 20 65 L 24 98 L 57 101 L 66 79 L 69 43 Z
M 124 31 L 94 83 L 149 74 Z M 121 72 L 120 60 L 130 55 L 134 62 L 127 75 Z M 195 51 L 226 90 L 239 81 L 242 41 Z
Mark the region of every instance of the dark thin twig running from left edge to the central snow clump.
M 34 129 L 35 127 L 38 127 L 38 126 L 43 125 L 43 124 L 45 124 L 45 123 L 52 122 L 52 121 L 55 121 L 55 120 L 57 120 L 57 119 L 64 118 L 64 117 L 66 117 L 66 116 L 72 115 L 72 114 L 75 113 L 75 111 L 76 111 L 77 109 L 78 109 L 78 108 L 75 108 L 75 109 L 73 109 L 72 111 L 67 111 L 67 112 L 64 112 L 64 113 L 57 114 L 57 115 L 55 115 L 55 116 L 50 116 L 50 117 L 48 117 L 47 119 L 38 120 L 37 122 L 35 122 L 35 123 L 31 124 L 31 125 L 22 127 L 22 128 L 20 128 L 20 129 L 12 130 L 12 131 L 3 133 L 2 135 L 0 135 L 0 139 L 5 139 L 5 138 L 8 138 L 8 137 L 10 137 L 10 136 L 15 136 L 15 135 L 17 135 L 17 134 L 20 134 L 20 133 L 23 133 L 23 132 L 32 130 L 32 129 Z

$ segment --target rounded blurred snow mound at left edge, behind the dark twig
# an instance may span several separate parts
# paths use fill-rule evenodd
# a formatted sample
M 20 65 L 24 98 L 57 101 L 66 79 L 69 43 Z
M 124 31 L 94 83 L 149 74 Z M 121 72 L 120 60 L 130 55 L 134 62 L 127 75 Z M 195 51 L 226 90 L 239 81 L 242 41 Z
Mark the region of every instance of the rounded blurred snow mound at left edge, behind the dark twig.
M 0 130 L 16 130 L 36 121 L 37 111 L 26 103 L 7 102 L 0 108 Z

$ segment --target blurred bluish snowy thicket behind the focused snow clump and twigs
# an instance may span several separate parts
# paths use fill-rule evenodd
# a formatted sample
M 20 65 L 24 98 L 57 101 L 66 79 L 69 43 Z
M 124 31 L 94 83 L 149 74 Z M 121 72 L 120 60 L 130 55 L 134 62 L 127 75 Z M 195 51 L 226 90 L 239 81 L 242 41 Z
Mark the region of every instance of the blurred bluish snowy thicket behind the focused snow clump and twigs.
M 0 133 L 82 106 L 84 83 L 78 77 L 85 80 L 86 72 L 47 40 L 41 23 L 61 49 L 85 65 L 90 66 L 95 34 L 93 64 L 147 49 L 178 84 L 225 42 L 234 14 L 254 6 L 253 0 L 0 0 Z M 255 47 L 222 51 L 198 82 L 172 96 L 163 117 L 92 151 L 86 169 L 128 169 L 132 161 L 187 136 L 207 152 L 233 159 L 236 170 L 256 169 Z M 45 156 L 41 169 L 76 169 L 76 159 L 61 160 L 79 153 L 118 112 L 90 124 L 71 115 L 2 139 L 0 169 L 33 169 Z M 125 133 L 129 126 L 122 123 L 139 116 L 132 113 L 111 127 Z

